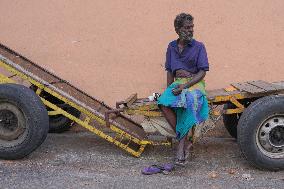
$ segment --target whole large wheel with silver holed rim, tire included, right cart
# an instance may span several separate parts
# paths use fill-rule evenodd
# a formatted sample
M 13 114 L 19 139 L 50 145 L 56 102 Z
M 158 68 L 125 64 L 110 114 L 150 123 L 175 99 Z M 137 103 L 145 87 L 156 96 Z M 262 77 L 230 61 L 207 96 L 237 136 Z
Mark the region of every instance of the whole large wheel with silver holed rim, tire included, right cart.
M 267 96 L 251 103 L 237 129 L 240 149 L 252 165 L 284 169 L 284 96 Z

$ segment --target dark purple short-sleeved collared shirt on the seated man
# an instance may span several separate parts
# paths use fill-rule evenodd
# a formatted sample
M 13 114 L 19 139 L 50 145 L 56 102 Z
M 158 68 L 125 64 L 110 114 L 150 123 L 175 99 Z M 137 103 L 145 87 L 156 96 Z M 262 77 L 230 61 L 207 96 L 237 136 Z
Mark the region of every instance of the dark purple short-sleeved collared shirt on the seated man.
M 192 39 L 179 53 L 177 40 L 169 43 L 165 69 L 175 75 L 179 69 L 190 73 L 197 73 L 200 70 L 209 71 L 209 64 L 206 49 L 203 43 Z

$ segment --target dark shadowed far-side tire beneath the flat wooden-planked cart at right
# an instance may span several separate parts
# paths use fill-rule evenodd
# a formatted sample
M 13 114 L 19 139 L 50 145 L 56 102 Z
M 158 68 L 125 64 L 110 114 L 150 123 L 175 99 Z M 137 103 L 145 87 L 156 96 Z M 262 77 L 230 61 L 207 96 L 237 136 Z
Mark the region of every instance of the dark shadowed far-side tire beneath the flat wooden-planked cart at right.
M 233 105 L 232 103 L 227 103 L 224 105 L 223 110 L 233 109 L 233 108 L 236 108 L 236 106 Z M 241 114 L 224 114 L 223 115 L 224 126 L 229 132 L 229 134 L 235 139 L 237 139 L 238 137 L 237 126 L 238 126 L 240 115 Z

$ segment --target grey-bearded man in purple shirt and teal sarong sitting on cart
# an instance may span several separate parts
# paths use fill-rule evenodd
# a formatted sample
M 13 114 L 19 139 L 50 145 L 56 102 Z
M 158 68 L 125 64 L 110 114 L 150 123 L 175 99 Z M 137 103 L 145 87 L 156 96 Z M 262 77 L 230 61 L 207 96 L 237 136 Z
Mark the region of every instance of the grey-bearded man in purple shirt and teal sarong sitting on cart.
M 158 99 L 166 120 L 179 140 L 176 164 L 184 164 L 191 141 L 186 138 L 194 125 L 208 118 L 205 77 L 209 70 L 203 43 L 193 39 L 193 17 L 181 13 L 174 21 L 178 39 L 169 43 L 166 53 L 167 89 Z

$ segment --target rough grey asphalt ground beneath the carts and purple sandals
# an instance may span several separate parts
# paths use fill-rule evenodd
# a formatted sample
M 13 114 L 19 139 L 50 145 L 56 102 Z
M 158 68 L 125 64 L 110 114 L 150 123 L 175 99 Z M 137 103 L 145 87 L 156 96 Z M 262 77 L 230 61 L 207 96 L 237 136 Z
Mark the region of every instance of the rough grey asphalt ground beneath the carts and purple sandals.
M 258 170 L 235 139 L 219 128 L 194 146 L 186 167 L 169 175 L 142 175 L 171 162 L 174 148 L 148 146 L 135 158 L 89 132 L 49 134 L 30 156 L 0 160 L 0 188 L 284 188 L 284 171 Z

